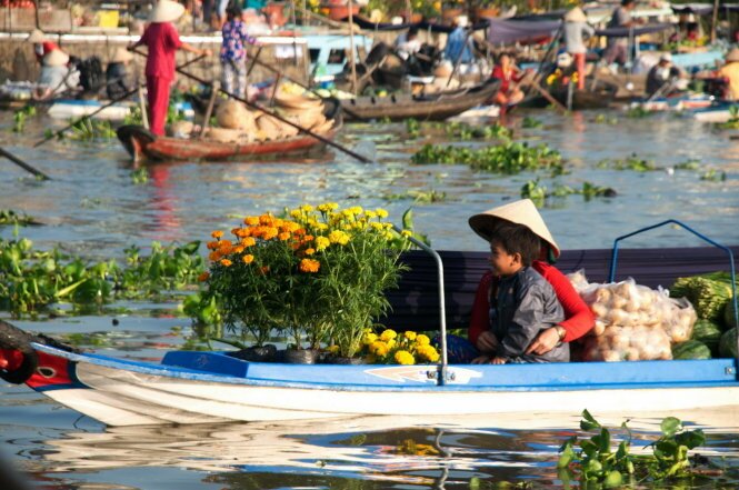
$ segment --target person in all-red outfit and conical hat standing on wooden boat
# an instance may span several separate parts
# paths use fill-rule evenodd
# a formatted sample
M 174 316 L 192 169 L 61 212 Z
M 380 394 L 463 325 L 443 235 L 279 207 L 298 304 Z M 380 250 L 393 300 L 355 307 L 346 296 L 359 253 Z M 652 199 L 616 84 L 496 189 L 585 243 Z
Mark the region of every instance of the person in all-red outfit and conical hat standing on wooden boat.
M 169 89 L 174 80 L 174 53 L 182 49 L 196 54 L 210 56 L 209 49 L 198 49 L 180 40 L 180 34 L 172 22 L 184 12 L 184 7 L 171 0 L 159 0 L 154 6 L 143 36 L 133 49 L 141 44 L 149 48 L 147 57 L 147 99 L 149 102 L 149 122 L 151 132 L 157 136 L 164 134 L 167 109 L 169 108 Z

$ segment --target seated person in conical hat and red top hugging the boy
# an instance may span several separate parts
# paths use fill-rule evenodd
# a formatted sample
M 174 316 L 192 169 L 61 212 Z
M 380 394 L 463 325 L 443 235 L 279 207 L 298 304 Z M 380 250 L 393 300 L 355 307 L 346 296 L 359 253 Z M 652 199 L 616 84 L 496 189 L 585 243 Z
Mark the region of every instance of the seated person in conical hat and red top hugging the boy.
M 550 262 L 559 257 L 559 247 L 530 199 L 476 214 L 470 218 L 469 223 L 472 230 L 487 241 L 490 241 L 500 223 L 522 226 L 539 239 L 540 251 L 531 262 L 531 269 L 539 272 L 552 287 L 562 306 L 565 319 L 550 323 L 547 328 L 540 328 L 533 339 L 529 339 L 523 356 L 533 359 L 542 358 L 539 362 L 547 361 L 547 354 L 558 348 L 561 342 L 572 342 L 595 327 L 596 319 L 592 312 L 575 290 L 570 280 L 551 266 Z M 472 303 L 469 340 L 447 336 L 450 363 L 487 362 L 491 356 L 496 354 L 498 338 L 491 330 L 490 306 L 495 303 L 492 292 L 498 283 L 499 278 L 496 271 L 489 271 L 480 279 Z

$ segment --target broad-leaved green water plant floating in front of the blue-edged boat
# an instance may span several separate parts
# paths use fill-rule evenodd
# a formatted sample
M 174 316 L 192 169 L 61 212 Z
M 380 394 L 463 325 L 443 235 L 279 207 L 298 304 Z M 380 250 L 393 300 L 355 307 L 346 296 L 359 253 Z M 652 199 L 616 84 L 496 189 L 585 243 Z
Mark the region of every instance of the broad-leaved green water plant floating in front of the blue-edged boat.
M 611 432 L 588 410 L 582 411 L 580 429 L 595 433 L 590 438 L 572 437 L 560 447 L 557 467 L 593 489 L 618 488 L 622 484 L 662 482 L 689 477 L 688 451 L 706 442 L 703 432 L 685 430 L 682 422 L 668 417 L 660 424 L 661 437 L 652 442 L 651 456 L 631 454 L 631 430 L 621 424 L 622 440 L 613 451 Z

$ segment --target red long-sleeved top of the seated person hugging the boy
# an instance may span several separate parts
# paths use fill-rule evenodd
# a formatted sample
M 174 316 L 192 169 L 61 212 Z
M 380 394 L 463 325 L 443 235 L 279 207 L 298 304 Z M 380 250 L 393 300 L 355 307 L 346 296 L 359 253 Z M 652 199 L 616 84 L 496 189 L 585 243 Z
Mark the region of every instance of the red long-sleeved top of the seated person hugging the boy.
M 570 280 L 559 269 L 547 262 L 535 260 L 531 267 L 552 286 L 557 299 L 562 304 L 565 320 L 559 322 L 559 324 L 567 330 L 563 341 L 571 342 L 585 336 L 596 324 L 596 318 L 590 308 L 582 301 L 580 294 L 575 290 Z M 477 288 L 477 293 L 475 294 L 468 332 L 470 342 L 473 346 L 477 346 L 477 339 L 480 337 L 480 333 L 490 330 L 489 291 L 493 280 L 497 280 L 497 278 L 492 271 L 482 276 Z

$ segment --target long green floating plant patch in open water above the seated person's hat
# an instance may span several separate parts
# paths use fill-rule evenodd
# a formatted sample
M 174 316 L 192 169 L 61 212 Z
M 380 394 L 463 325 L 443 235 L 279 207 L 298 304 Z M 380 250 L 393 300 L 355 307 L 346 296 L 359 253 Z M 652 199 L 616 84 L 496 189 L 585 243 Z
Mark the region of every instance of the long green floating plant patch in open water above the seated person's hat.
M 466 147 L 425 144 L 411 158 L 413 163 L 465 163 L 475 170 L 515 174 L 525 170 L 562 170 L 562 156 L 546 144 L 529 147 L 527 142 L 506 141 L 500 144 L 470 149 Z

